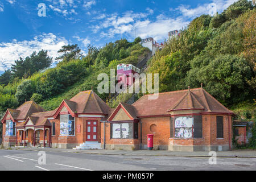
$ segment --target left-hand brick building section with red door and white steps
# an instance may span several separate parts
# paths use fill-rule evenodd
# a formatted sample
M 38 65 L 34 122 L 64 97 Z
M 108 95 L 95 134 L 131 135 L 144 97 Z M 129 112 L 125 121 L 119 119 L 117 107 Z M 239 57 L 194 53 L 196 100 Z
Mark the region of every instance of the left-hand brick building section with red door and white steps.
M 52 111 L 44 111 L 33 101 L 25 102 L 16 110 L 7 109 L 2 118 L 3 144 L 72 148 L 99 143 L 100 121 L 109 115 L 109 106 L 92 90 L 63 100 Z

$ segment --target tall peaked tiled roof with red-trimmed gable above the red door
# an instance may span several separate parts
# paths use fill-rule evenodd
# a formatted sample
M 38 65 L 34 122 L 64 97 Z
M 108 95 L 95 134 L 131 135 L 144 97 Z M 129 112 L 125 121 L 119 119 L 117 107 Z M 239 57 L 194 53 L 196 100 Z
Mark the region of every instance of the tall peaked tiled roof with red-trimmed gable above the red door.
M 110 107 L 93 90 L 80 92 L 70 100 L 63 100 L 60 106 L 53 112 L 53 117 L 60 113 L 63 106 L 67 107 L 73 117 L 75 114 L 109 115 L 111 113 Z

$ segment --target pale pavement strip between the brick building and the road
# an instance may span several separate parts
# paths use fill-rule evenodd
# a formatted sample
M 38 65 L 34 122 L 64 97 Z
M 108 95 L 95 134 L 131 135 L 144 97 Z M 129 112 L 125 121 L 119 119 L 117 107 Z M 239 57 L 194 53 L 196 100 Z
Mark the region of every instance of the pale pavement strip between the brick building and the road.
M 166 151 L 166 150 L 73 150 L 60 148 L 12 148 L 13 150 L 32 150 L 32 151 L 56 151 L 56 152 L 72 152 L 85 154 L 100 154 L 100 155 L 144 155 L 144 156 L 197 156 L 209 157 L 209 151 L 200 152 L 184 152 L 184 151 Z M 217 151 L 218 158 L 256 158 L 256 150 L 233 150 L 233 151 Z

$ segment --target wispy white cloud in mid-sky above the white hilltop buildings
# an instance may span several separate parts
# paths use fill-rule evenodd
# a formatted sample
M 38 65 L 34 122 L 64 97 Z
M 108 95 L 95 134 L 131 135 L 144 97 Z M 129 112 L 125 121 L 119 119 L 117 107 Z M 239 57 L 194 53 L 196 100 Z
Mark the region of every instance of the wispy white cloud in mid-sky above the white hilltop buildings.
M 130 38 L 140 36 L 142 39 L 152 37 L 156 41 L 163 41 L 168 38 L 168 32 L 172 30 L 180 30 L 182 27 L 187 26 L 188 20 L 184 18 L 169 18 L 160 14 L 156 20 L 147 19 L 152 11 L 148 13 L 133 13 L 128 11 L 122 16 L 118 14 L 108 15 L 103 22 L 90 28 L 94 33 L 100 32 L 101 38 L 114 38 L 115 35 L 126 34 Z M 104 30 L 105 29 L 105 30 Z

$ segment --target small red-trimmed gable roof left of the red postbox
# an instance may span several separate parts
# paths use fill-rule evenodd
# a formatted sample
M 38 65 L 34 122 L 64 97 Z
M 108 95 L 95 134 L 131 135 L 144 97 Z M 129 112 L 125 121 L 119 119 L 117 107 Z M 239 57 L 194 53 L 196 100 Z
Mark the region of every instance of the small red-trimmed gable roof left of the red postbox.
M 115 117 L 115 115 L 118 113 L 118 111 L 121 108 L 123 110 L 125 110 L 126 114 L 129 116 L 129 118 L 131 120 L 138 119 L 136 117 L 136 111 L 135 111 L 135 107 L 134 106 L 120 102 L 119 105 L 115 108 L 115 110 L 113 111 L 113 113 L 110 115 L 110 117 L 107 120 L 108 121 L 112 121 L 112 119 Z

